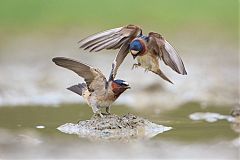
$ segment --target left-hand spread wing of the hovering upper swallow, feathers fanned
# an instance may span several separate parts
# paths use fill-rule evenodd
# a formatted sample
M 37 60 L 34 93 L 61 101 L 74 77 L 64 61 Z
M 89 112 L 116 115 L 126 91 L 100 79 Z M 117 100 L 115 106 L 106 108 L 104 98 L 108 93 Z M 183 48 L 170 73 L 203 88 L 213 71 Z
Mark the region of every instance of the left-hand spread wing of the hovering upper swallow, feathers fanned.
M 84 48 L 84 50 L 89 50 L 90 52 L 98 52 L 103 49 L 118 49 L 141 33 L 142 30 L 138 26 L 130 24 L 96 33 L 80 40 L 79 44 L 80 48 Z

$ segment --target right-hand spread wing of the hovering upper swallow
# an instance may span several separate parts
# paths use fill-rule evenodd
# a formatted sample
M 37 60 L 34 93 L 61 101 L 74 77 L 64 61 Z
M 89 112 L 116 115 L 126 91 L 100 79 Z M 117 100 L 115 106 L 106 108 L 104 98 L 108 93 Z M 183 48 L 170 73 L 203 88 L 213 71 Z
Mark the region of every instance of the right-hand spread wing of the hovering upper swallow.
M 181 57 L 176 50 L 166 41 L 160 34 L 150 32 L 149 33 L 148 48 L 156 53 L 160 59 L 164 61 L 166 65 L 171 67 L 179 74 L 186 75 L 186 69 L 184 67 Z

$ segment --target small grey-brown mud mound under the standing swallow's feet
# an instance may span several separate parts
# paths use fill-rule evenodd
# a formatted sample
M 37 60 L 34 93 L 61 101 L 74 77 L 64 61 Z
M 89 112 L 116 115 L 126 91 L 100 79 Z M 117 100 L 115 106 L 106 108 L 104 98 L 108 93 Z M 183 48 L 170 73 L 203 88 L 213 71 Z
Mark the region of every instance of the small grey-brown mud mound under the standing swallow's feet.
M 171 127 L 152 123 L 133 114 L 124 116 L 112 114 L 104 115 L 102 118 L 93 116 L 90 120 L 80 121 L 78 124 L 66 123 L 57 129 L 91 139 L 128 139 L 151 138 L 170 130 Z

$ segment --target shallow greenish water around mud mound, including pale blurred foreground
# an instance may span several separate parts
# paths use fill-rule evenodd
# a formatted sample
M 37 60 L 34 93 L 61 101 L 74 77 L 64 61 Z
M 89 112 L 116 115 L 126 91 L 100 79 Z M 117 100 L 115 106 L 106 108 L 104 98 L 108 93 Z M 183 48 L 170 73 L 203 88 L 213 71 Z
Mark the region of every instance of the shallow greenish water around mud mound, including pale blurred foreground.
M 231 123 L 189 118 L 194 112 L 228 115 L 229 106 L 203 108 L 192 102 L 161 113 L 154 109 L 135 111 L 127 106 L 113 106 L 112 112 L 134 113 L 173 129 L 151 139 L 131 142 L 91 141 L 56 129 L 68 122 L 89 119 L 92 111 L 86 105 L 1 107 L 0 158 L 239 158 L 238 133 Z

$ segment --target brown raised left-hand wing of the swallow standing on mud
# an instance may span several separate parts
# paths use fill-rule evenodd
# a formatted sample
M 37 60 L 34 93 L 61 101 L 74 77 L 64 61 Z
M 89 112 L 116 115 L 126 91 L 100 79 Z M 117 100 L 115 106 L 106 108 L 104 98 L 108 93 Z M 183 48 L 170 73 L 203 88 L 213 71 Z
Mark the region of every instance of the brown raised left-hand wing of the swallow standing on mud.
M 55 57 L 52 61 L 56 65 L 70 69 L 84 78 L 89 91 L 94 91 L 96 89 L 103 90 L 105 88 L 107 80 L 100 70 L 65 57 Z

